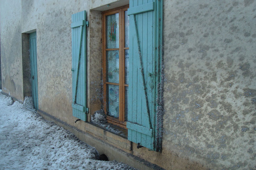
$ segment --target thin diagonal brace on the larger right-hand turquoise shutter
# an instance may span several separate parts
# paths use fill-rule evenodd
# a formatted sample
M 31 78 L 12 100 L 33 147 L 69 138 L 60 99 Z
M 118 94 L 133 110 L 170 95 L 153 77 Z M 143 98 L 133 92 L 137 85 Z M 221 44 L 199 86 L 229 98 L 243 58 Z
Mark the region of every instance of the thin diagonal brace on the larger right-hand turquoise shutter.
M 147 113 L 148 113 L 148 120 L 149 120 L 149 127 L 152 129 L 152 124 L 151 124 L 151 119 L 150 119 L 150 111 L 149 111 L 149 106 L 148 106 L 148 95 L 147 95 L 147 88 L 146 88 L 146 83 L 145 83 L 145 76 L 144 76 L 144 69 L 143 69 L 143 63 L 142 63 L 142 56 L 141 56 L 141 51 L 140 51 L 140 43 L 139 43 L 139 33 L 138 33 L 138 27 L 137 27 L 137 22 L 136 22 L 136 17 L 135 14 L 133 14 L 134 17 L 134 23 L 135 23 L 135 29 L 136 29 L 136 37 L 137 37 L 137 42 L 138 42 L 138 50 L 139 50 L 139 62 L 141 66 L 141 75 L 143 79 L 143 86 L 144 86 L 144 93 L 145 93 L 145 98 L 146 98 L 146 107 L 147 107 Z

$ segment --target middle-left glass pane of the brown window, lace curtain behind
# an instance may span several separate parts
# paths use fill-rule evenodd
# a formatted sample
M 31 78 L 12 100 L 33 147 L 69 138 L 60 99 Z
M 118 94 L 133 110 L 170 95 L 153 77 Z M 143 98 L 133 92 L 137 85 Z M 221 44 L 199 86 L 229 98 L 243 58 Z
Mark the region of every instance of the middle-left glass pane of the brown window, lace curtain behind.
M 119 52 L 106 51 L 107 82 L 119 83 Z

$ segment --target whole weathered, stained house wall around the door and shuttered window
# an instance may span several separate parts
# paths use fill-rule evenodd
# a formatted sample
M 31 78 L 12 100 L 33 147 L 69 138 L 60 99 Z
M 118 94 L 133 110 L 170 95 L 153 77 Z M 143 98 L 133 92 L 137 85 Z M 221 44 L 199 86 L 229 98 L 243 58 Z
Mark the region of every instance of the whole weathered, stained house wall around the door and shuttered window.
M 103 106 L 102 11 L 127 4 L 2 0 L 3 93 L 20 102 L 32 95 L 29 33 L 36 31 L 38 112 L 100 154 L 141 169 L 255 169 L 256 2 L 163 0 L 161 152 L 137 149 L 127 138 L 90 123 Z M 83 10 L 89 21 L 89 112 L 87 122 L 75 123 L 71 16 Z

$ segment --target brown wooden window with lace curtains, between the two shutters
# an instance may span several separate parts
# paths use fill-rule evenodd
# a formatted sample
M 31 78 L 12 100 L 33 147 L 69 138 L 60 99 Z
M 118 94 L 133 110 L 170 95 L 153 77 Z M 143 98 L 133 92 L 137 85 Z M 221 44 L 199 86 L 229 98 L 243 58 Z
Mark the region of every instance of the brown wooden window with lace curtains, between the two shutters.
M 102 13 L 104 108 L 109 123 L 126 128 L 129 75 L 129 5 Z

